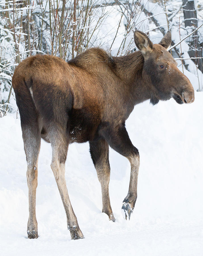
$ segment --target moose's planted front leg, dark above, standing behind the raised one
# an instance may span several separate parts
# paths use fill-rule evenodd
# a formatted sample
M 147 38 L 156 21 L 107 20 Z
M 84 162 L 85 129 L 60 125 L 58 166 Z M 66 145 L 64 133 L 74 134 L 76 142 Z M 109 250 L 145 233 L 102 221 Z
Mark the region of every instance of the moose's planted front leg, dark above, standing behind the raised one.
M 96 142 L 90 142 L 90 154 L 97 170 L 97 176 L 99 182 L 101 183 L 101 190 L 102 190 L 102 212 L 105 212 L 109 220 L 115 222 L 115 218 L 111 209 L 110 205 L 110 198 L 109 198 L 109 180 L 110 180 L 110 165 L 109 165 L 109 149 L 108 143 L 101 139 Z

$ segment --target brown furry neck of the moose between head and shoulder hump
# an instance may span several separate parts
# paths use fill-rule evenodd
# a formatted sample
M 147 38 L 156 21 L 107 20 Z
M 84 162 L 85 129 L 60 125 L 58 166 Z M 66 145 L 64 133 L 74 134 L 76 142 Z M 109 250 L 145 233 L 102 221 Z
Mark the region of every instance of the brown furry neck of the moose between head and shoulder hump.
M 144 57 L 140 51 L 112 59 L 113 71 L 123 81 L 124 86 L 127 86 L 134 105 L 152 98 L 149 82 L 143 77 Z

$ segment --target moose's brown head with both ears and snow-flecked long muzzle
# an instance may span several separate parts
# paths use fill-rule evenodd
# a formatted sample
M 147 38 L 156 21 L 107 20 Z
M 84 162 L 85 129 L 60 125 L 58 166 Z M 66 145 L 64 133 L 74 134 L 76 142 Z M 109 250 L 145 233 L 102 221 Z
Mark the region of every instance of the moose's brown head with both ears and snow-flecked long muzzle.
M 145 62 L 143 77 L 153 88 L 152 104 L 159 100 L 173 98 L 177 103 L 192 103 L 194 89 L 189 79 L 177 68 L 177 62 L 167 51 L 171 44 L 171 32 L 168 31 L 159 44 L 153 44 L 141 31 L 134 32 L 137 48 L 142 52 Z

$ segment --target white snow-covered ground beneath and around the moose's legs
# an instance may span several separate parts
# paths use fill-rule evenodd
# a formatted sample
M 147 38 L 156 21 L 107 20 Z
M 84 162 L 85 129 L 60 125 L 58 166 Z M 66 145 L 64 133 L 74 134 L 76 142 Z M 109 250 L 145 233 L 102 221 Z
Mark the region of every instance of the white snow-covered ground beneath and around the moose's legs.
M 192 81 L 191 81 L 192 82 Z M 52 174 L 51 146 L 41 142 L 36 216 L 39 238 L 27 239 L 28 188 L 20 120 L 0 119 L 0 255 L 203 255 L 203 92 L 190 105 L 173 99 L 135 106 L 126 122 L 140 152 L 138 199 L 130 221 L 121 206 L 130 165 L 110 150 L 110 200 L 116 222 L 101 213 L 101 187 L 89 145 L 72 144 L 69 196 L 85 236 L 70 240 Z

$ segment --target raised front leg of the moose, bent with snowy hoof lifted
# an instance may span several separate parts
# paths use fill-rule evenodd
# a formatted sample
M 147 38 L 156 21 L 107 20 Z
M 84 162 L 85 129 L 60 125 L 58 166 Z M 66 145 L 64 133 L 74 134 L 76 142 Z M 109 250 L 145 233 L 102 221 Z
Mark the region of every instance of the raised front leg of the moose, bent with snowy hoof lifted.
M 124 124 L 116 127 L 105 127 L 102 132 L 110 147 L 125 156 L 131 165 L 129 189 L 122 205 L 122 213 L 127 220 L 127 217 L 130 219 L 137 200 L 137 177 L 140 166 L 139 152 L 131 143 Z

